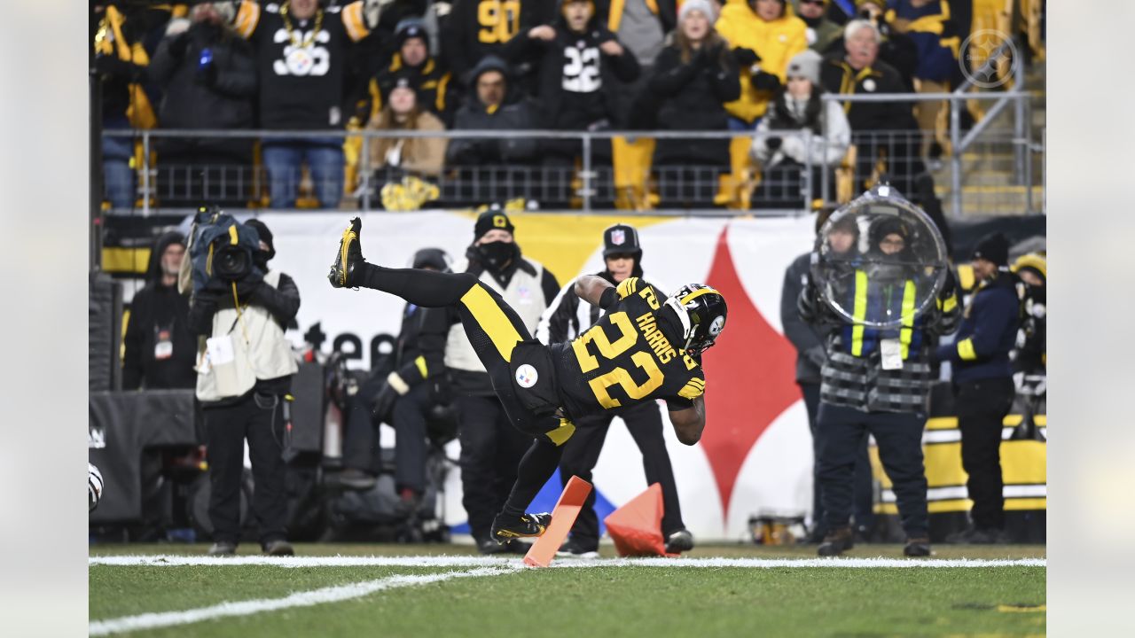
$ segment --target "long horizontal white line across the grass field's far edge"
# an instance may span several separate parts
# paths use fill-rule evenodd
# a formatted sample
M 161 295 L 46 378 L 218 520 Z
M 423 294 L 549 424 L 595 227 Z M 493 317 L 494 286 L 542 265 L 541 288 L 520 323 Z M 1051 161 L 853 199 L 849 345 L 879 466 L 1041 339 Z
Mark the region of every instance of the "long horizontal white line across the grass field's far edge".
M 520 559 L 496 556 L 186 556 L 173 554 L 91 556 L 92 565 L 278 568 L 518 568 Z M 558 559 L 554 568 L 1004 568 L 1048 566 L 1048 559 Z

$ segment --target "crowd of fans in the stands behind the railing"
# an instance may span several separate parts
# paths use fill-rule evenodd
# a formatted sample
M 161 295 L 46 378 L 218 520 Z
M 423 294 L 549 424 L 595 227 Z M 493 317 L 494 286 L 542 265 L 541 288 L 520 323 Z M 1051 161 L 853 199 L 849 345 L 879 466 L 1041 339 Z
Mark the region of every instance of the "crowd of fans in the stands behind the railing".
M 592 205 L 799 208 L 802 184 L 812 198 L 835 196 L 818 184 L 823 171 L 834 184 L 841 165 L 856 191 L 885 174 L 928 205 L 944 102 L 819 96 L 956 86 L 969 30 L 960 5 L 972 9 L 949 0 L 112 1 L 92 20 L 96 124 L 111 133 L 106 199 L 136 205 L 149 161 L 159 205 L 336 208 L 358 196 L 363 173 L 379 186 L 407 176 L 459 185 L 447 198 L 468 203 L 520 195 L 578 205 L 581 142 L 512 136 L 552 129 L 722 132 L 594 138 Z M 136 136 L 114 134 L 144 128 L 281 133 L 159 136 L 145 156 Z M 351 135 L 361 129 L 503 134 L 364 146 Z M 521 188 L 529 183 L 538 188 Z

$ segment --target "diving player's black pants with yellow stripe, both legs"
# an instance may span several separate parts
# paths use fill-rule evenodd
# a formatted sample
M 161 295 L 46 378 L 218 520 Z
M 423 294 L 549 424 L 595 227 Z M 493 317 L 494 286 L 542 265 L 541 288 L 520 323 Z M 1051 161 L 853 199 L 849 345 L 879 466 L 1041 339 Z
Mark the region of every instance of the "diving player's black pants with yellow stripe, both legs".
M 532 414 L 512 387 L 508 362 L 513 347 L 532 338 L 528 327 L 496 291 L 468 272 L 382 268 L 365 262 L 359 269 L 361 287 L 387 292 L 422 308 L 457 309 L 469 343 L 489 373 L 510 422 L 535 438 L 516 468 L 516 482 L 502 509 L 510 515 L 522 514 L 555 473 L 563 444 L 575 431 L 575 426 L 566 419 Z

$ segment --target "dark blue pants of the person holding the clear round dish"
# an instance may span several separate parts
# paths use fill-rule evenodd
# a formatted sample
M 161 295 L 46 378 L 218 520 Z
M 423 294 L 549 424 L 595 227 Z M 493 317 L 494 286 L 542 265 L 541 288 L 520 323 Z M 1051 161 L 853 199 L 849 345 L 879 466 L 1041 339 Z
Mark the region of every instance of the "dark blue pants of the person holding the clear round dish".
M 861 412 L 819 402 L 816 418 L 821 436 L 819 481 L 829 529 L 850 523 L 856 456 L 871 434 L 878 445 L 883 469 L 893 484 L 903 531 L 908 538 L 930 536 L 922 453 L 925 422 L 924 414 Z

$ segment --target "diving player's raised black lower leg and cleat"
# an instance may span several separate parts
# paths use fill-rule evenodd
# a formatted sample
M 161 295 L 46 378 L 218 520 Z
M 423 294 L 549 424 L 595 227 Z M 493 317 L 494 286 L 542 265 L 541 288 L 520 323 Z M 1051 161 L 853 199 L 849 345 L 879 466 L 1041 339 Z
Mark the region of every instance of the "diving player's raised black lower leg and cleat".
M 372 288 L 400 296 L 422 308 L 453 305 L 472 287 L 477 277 L 465 272 L 434 272 L 413 268 L 382 268 L 362 257 L 362 220 L 358 217 L 343 232 L 339 250 L 327 278 L 336 288 Z

